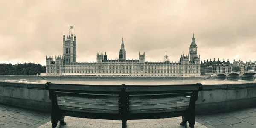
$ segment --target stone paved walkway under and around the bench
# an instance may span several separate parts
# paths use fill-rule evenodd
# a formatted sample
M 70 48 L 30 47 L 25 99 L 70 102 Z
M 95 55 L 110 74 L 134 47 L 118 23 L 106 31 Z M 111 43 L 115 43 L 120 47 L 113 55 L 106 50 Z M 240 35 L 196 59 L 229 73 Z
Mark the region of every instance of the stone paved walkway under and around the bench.
M 65 117 L 63 128 L 121 128 L 121 121 Z M 128 128 L 184 128 L 181 117 L 128 120 Z M 51 128 L 50 113 L 0 104 L 0 128 Z M 58 126 L 57 126 L 58 128 Z M 189 128 L 189 127 L 188 127 Z M 195 128 L 256 128 L 256 107 L 196 116 Z

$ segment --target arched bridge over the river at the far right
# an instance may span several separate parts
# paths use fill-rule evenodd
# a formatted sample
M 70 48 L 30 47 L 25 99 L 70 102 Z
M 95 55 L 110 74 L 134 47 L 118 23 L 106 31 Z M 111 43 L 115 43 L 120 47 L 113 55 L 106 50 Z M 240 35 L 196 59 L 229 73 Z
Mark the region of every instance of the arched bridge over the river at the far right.
M 256 71 L 244 71 L 244 72 L 230 72 L 230 73 L 215 73 L 214 79 L 223 80 L 254 80 Z

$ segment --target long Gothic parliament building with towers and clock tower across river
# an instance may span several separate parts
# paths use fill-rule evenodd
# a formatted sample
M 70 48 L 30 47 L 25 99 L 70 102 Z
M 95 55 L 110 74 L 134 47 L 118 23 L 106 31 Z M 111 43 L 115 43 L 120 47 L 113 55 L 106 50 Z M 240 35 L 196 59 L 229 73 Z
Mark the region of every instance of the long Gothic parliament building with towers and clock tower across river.
M 181 55 L 179 62 L 170 62 L 167 55 L 163 62 L 145 61 L 145 52 L 137 59 L 126 59 L 125 44 L 122 39 L 118 59 L 108 59 L 105 53 L 97 53 L 96 62 L 76 62 L 76 35 L 63 35 L 63 55 L 46 57 L 47 76 L 149 76 L 200 77 L 200 55 L 195 44 L 194 34 L 189 54 Z

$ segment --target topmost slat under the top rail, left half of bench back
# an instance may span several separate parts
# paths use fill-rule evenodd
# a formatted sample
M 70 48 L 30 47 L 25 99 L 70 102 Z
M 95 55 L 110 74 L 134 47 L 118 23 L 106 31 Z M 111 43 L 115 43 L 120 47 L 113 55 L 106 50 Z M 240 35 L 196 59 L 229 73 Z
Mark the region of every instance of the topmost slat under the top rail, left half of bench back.
M 61 91 L 56 91 L 56 94 L 57 96 L 81 97 L 81 98 L 90 98 L 90 99 L 109 99 L 109 100 L 118 101 L 118 94 L 73 93 L 73 92 L 61 92 Z

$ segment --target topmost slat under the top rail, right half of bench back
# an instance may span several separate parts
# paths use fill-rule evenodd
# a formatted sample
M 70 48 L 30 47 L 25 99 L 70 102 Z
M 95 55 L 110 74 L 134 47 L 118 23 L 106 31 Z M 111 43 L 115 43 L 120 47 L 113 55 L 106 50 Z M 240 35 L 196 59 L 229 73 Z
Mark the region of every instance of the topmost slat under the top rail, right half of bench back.
M 161 98 L 176 98 L 176 97 L 182 98 L 187 96 L 191 96 L 191 92 L 130 95 L 129 100 L 131 101 L 131 100 L 137 100 L 137 99 L 161 99 Z

